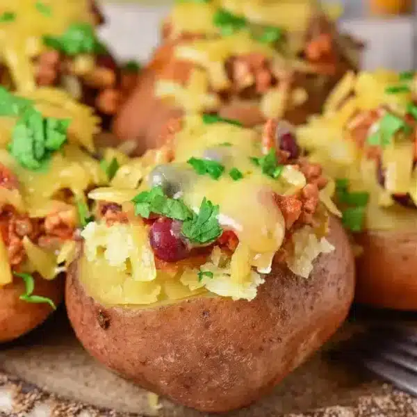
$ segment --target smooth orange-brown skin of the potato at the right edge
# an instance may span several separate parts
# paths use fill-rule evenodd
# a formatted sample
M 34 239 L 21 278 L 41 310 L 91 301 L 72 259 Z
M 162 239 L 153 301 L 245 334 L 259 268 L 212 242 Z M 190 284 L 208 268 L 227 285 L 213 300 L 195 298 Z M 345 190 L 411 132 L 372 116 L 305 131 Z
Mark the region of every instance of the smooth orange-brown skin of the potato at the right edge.
M 368 231 L 356 237 L 356 300 L 397 310 L 417 310 L 417 229 Z

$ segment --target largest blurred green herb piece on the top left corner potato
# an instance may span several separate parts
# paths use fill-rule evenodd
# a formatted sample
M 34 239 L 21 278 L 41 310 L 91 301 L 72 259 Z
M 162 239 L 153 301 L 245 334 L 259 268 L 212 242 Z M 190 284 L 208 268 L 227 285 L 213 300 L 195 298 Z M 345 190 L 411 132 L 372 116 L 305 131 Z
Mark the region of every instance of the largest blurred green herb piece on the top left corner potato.
M 102 54 L 105 47 L 88 23 L 73 23 L 61 36 L 44 36 L 44 44 L 66 55 Z

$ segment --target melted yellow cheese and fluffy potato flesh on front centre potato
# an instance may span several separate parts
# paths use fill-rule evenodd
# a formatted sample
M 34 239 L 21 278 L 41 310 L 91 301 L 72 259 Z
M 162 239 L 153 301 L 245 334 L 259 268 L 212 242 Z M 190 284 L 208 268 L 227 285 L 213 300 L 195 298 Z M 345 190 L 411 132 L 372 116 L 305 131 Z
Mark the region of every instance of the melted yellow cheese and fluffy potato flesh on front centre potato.
M 284 165 L 277 179 L 264 174 L 250 159 L 262 156 L 259 139 L 254 130 L 223 122 L 205 124 L 202 117 L 189 116 L 176 135 L 174 161 L 158 165 L 176 170 L 179 196 L 195 213 L 204 198 L 219 206 L 220 226 L 238 237 L 233 254 L 215 246 L 205 260 L 186 259 L 167 268 L 156 268 L 147 227 L 133 215 L 129 202 L 135 193 L 149 190 L 152 167 L 142 165 L 145 181 L 136 190 L 130 186 L 121 188 L 118 182 L 117 188 L 99 188 L 89 193 L 91 199 L 122 204 L 129 223 L 109 226 L 101 220 L 83 230 L 81 281 L 88 293 L 104 304 L 147 305 L 201 295 L 253 300 L 258 286 L 268 279 L 262 274 L 271 272 L 272 259 L 286 234 L 274 195 L 295 195 L 306 185 L 304 174 L 293 165 Z M 220 158 L 224 172 L 217 180 L 197 174 L 187 162 L 191 157 Z M 238 181 L 229 175 L 232 168 L 243 174 Z M 320 221 L 325 229 L 327 218 Z M 302 227 L 292 242 L 295 252 L 288 257 L 288 268 L 306 278 L 313 259 L 334 249 L 311 227 Z M 199 277 L 199 271 L 211 272 L 213 277 Z

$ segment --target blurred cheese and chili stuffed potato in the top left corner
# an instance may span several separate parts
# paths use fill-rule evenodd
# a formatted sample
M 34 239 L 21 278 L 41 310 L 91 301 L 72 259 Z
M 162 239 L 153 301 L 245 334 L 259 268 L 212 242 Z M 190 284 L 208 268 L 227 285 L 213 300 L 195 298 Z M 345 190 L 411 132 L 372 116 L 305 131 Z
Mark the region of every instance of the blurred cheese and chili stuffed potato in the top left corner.
M 95 2 L 1 0 L 0 10 L 0 83 L 19 92 L 63 88 L 108 127 L 137 70 L 119 67 L 97 38 Z

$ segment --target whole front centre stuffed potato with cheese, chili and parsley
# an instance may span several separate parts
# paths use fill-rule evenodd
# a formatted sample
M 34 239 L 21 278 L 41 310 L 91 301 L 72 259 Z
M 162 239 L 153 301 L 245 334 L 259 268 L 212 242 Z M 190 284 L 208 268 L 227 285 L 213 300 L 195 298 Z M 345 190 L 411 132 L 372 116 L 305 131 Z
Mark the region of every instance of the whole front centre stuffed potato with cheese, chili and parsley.
M 173 120 L 163 148 L 89 193 L 96 218 L 65 302 L 101 363 L 223 412 L 268 393 L 341 325 L 354 294 L 350 243 L 327 211 L 320 166 L 288 134 L 277 143 L 278 129 Z

